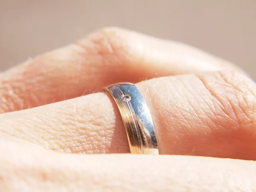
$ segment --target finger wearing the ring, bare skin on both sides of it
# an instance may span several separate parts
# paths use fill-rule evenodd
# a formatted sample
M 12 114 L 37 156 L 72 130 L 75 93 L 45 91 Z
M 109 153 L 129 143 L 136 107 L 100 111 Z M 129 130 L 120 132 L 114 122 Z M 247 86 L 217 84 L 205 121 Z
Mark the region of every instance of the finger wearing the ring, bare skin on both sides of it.
M 151 109 L 160 154 L 256 160 L 256 85 L 233 72 L 137 84 Z M 73 153 L 127 153 L 116 104 L 94 93 L 0 116 L 2 137 Z

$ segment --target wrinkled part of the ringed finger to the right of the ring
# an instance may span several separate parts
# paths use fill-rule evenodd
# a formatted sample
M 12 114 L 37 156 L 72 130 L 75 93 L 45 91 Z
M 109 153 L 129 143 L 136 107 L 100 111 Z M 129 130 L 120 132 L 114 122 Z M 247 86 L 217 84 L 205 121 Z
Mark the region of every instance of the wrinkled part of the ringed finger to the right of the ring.
M 160 153 L 256 159 L 249 152 L 256 150 L 256 86 L 246 76 L 221 71 L 145 84 Z

